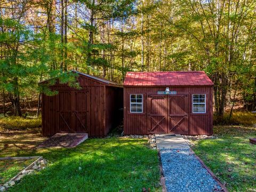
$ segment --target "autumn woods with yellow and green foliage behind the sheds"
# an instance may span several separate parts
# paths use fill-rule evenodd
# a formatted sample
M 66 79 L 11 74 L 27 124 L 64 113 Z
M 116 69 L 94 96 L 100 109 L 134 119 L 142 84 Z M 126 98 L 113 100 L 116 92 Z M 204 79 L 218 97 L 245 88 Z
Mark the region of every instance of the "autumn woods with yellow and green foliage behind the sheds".
M 9 113 L 21 116 L 40 106 L 41 92 L 54 94 L 38 87 L 44 79 L 60 75 L 78 87 L 63 73 L 70 69 L 117 82 L 126 71 L 204 70 L 214 82 L 217 115 L 237 106 L 255 110 L 255 6 L 253 0 L 3 0 L 1 113 L 12 106 Z

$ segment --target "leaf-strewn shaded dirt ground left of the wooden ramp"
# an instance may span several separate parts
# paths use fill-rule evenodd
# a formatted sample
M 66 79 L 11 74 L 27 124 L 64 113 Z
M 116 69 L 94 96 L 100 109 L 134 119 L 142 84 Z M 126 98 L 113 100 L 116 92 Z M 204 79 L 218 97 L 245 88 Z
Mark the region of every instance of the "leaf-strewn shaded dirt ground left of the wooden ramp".
M 41 128 L 0 130 L 0 157 L 22 156 L 35 150 L 44 141 Z

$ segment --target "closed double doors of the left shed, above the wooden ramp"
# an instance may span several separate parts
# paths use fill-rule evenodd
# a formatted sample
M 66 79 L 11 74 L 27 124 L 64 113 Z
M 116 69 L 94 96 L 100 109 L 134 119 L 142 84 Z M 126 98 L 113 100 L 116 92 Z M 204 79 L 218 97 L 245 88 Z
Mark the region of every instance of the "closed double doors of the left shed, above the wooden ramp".
M 59 92 L 57 102 L 57 121 L 60 132 L 87 133 L 88 92 Z

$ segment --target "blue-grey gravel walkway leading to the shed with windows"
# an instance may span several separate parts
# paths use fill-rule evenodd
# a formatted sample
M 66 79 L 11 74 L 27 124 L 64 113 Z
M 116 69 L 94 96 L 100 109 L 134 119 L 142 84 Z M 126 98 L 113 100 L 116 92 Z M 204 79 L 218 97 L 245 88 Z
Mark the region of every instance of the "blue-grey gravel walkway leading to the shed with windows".
M 167 191 L 221 191 L 221 187 L 189 149 L 161 149 Z

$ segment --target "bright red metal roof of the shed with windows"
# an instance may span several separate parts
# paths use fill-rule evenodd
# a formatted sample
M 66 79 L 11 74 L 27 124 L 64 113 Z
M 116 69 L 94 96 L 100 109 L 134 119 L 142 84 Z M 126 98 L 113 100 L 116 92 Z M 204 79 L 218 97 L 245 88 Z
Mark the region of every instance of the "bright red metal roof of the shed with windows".
M 127 72 L 124 86 L 213 85 L 204 71 Z

